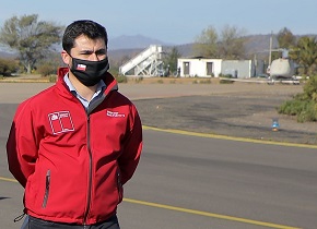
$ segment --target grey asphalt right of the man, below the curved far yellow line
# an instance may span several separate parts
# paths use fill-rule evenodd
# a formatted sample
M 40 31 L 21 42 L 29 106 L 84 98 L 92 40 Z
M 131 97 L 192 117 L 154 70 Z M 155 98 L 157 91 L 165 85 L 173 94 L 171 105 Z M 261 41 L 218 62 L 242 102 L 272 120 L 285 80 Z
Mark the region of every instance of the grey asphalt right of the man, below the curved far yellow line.
M 133 228 L 316 228 L 316 148 L 151 130 L 144 143 L 126 197 L 210 215 L 134 205 L 139 215 L 124 203 L 121 216 L 130 206 Z

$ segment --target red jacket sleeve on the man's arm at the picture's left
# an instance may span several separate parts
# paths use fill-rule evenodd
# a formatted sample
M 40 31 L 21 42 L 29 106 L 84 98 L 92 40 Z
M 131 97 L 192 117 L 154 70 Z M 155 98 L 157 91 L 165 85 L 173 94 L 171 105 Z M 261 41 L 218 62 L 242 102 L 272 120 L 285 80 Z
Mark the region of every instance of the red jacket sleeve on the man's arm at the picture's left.
M 23 188 L 35 169 L 38 135 L 30 104 L 24 101 L 15 112 L 7 142 L 9 170 Z

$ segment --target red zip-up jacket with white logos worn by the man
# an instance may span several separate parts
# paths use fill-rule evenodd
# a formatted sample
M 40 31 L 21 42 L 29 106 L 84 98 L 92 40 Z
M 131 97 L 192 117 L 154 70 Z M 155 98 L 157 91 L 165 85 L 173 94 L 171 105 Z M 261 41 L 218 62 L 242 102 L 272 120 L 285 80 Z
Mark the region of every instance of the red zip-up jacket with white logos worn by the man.
M 104 99 L 91 112 L 56 85 L 22 103 L 7 143 L 9 169 L 25 188 L 25 213 L 92 225 L 116 214 L 133 174 L 142 126 L 133 104 L 107 73 Z

